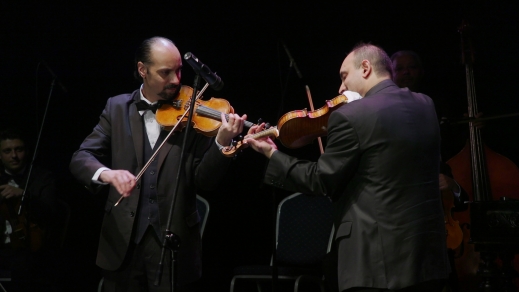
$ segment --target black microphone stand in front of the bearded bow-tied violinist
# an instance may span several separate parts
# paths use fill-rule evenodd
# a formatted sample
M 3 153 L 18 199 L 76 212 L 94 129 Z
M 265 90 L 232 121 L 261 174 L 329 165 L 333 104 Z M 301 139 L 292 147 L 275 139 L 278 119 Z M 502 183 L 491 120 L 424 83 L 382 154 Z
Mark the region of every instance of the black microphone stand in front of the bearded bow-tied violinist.
M 180 247 L 181 240 L 178 235 L 176 235 L 175 233 L 173 233 L 170 230 L 170 226 L 171 226 L 171 221 L 172 221 L 172 217 L 173 217 L 173 210 L 175 209 L 175 201 L 177 198 L 178 188 L 180 185 L 180 176 L 184 169 L 183 166 L 184 166 L 184 153 L 186 152 L 186 141 L 187 141 L 187 137 L 189 137 L 190 129 L 192 128 L 191 121 L 193 119 L 193 114 L 195 111 L 196 91 L 198 88 L 199 80 L 200 80 L 200 75 L 196 74 L 195 80 L 193 81 L 193 95 L 191 96 L 191 103 L 190 103 L 191 106 L 189 108 L 189 116 L 187 118 L 187 125 L 184 130 L 185 133 L 184 133 L 184 138 L 182 140 L 182 150 L 180 152 L 180 164 L 178 167 L 177 177 L 175 179 L 175 181 L 176 181 L 175 192 L 173 193 L 173 198 L 171 199 L 171 205 L 169 207 L 168 222 L 166 224 L 166 231 L 164 234 L 164 239 L 162 241 L 162 250 L 160 253 L 159 267 L 157 269 L 155 282 L 153 283 L 155 286 L 160 286 L 162 272 L 163 272 L 163 268 L 164 268 L 164 256 L 166 253 L 166 248 L 168 248 L 171 251 L 171 262 L 170 262 L 171 275 L 170 276 L 171 276 L 171 291 L 172 292 L 175 291 L 175 284 L 177 282 L 177 278 L 176 278 L 177 277 L 177 267 L 176 267 L 177 253 L 178 253 L 178 248 Z

